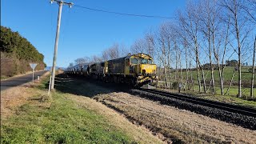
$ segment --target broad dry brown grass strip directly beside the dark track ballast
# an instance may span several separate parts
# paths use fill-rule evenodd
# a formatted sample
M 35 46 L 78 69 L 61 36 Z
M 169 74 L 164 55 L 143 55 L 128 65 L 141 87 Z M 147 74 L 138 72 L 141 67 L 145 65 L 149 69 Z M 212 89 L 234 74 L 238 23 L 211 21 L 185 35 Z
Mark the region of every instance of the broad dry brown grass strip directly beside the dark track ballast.
M 164 106 L 144 98 L 114 92 L 95 97 L 131 121 L 145 126 L 166 142 L 254 143 L 256 131 L 208 118 L 187 110 Z

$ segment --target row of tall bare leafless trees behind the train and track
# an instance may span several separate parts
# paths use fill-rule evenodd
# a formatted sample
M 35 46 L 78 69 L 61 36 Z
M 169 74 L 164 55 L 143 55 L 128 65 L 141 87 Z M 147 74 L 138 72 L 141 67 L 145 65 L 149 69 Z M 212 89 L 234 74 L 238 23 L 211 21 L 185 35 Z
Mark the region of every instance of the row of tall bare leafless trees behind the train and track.
M 237 95 L 242 97 L 242 64 L 250 65 L 250 97 L 253 98 L 256 41 L 255 0 L 197 0 L 188 1 L 176 18 L 147 30 L 130 49 L 115 43 L 101 56 L 78 58 L 75 63 L 100 62 L 125 56 L 128 52 L 150 54 L 160 69 L 165 87 L 174 82 L 184 89 L 199 93 L 225 95 L 238 74 Z M 206 70 L 207 64 L 207 70 Z M 232 77 L 225 78 L 227 66 L 234 66 Z M 185 74 L 184 74 L 185 70 Z M 192 74 L 196 71 L 196 78 Z M 218 80 L 216 80 L 216 74 Z M 210 73 L 210 74 L 208 74 Z M 210 81 L 207 81 L 210 78 Z M 196 80 L 197 82 L 194 82 Z M 225 90 L 225 82 L 228 82 Z

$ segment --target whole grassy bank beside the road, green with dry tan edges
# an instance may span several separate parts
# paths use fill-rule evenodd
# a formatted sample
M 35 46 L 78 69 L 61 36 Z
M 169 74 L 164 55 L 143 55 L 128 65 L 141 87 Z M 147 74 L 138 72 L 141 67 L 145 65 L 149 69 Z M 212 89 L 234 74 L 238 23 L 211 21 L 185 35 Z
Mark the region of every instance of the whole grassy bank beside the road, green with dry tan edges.
M 159 142 L 145 131 L 133 128 L 128 121 L 128 124 L 121 125 L 131 127 L 131 130 L 116 125 L 114 118 L 121 116 L 107 117 L 108 108 L 100 110 L 100 106 L 94 106 L 99 102 L 90 98 L 84 100 L 88 102 L 85 106 L 79 103 L 83 100 L 80 97 L 79 102 L 74 101 L 77 95 L 58 90 L 51 94 L 51 98 L 46 97 L 46 83 L 45 79 L 39 86 L 28 88 L 31 93 L 29 100 L 16 108 L 9 118 L 1 120 L 1 143 Z M 122 120 L 118 119 L 118 122 Z

